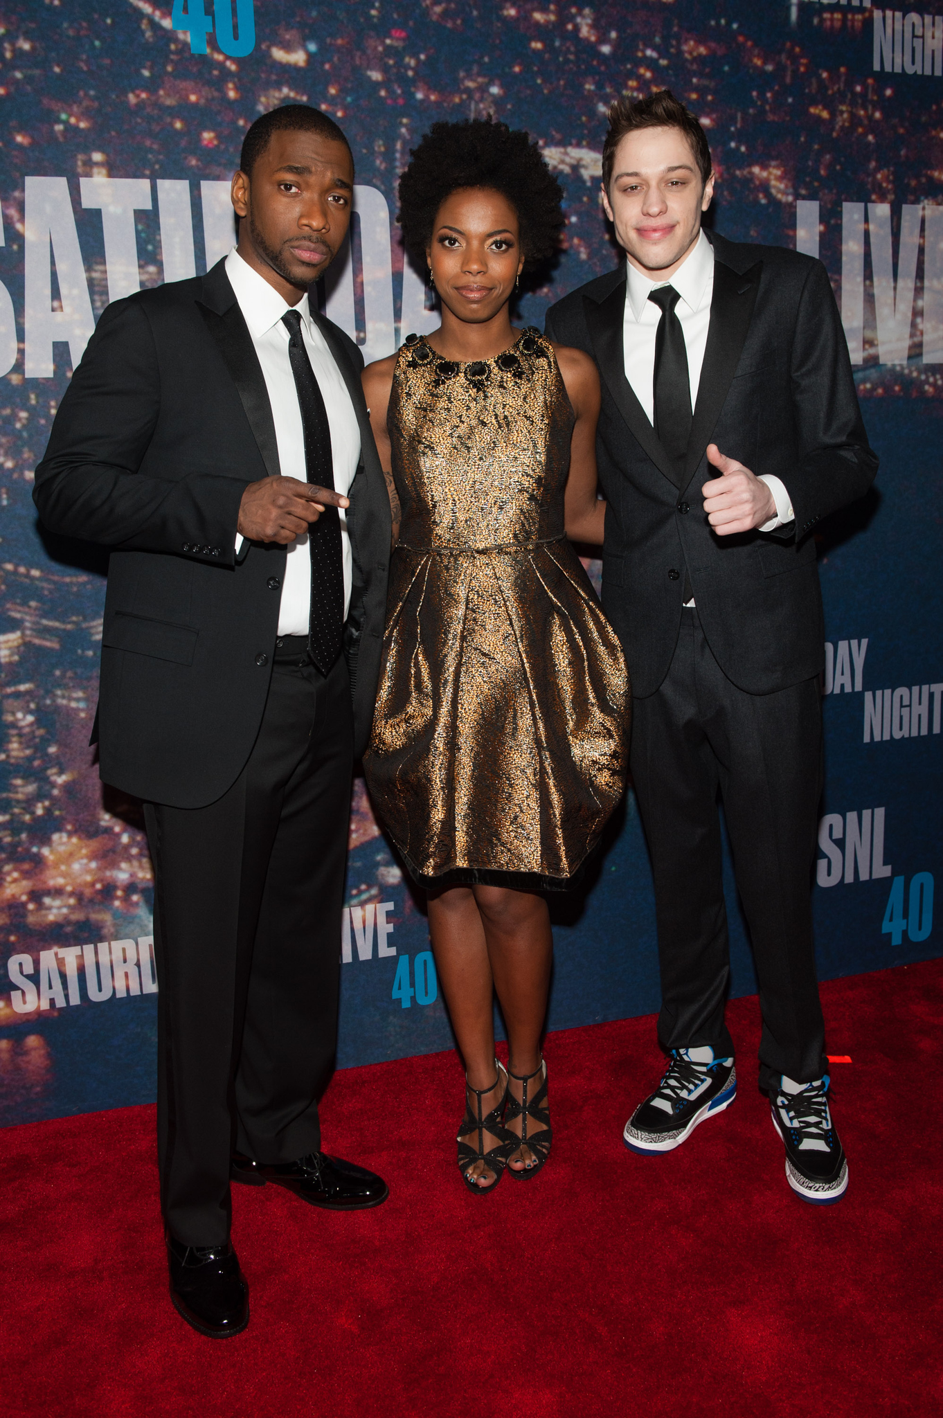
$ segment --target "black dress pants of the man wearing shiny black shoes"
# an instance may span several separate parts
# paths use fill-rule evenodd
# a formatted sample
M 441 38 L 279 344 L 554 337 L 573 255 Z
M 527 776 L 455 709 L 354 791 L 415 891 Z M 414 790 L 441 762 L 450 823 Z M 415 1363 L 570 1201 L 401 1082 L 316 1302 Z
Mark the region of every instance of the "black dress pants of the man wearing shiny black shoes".
M 233 1149 L 320 1149 L 337 1032 L 352 777 L 343 657 L 272 669 L 252 754 L 210 807 L 145 805 L 155 865 L 162 1208 L 186 1245 L 230 1234 Z

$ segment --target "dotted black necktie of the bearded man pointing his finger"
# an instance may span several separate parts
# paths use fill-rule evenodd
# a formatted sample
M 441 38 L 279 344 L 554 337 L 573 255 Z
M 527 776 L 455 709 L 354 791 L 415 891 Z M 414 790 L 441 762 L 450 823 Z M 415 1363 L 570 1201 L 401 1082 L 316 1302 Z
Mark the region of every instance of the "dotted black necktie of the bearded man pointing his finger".
M 305 467 L 308 482 L 319 488 L 333 488 L 335 469 L 330 452 L 330 424 L 328 410 L 311 367 L 301 333 L 301 315 L 282 315 L 291 340 L 288 357 L 295 376 L 301 421 L 305 430 Z M 322 675 L 326 675 L 337 655 L 343 635 L 343 553 L 340 549 L 340 519 L 336 508 L 325 508 L 308 527 L 311 549 L 311 621 L 308 647 Z

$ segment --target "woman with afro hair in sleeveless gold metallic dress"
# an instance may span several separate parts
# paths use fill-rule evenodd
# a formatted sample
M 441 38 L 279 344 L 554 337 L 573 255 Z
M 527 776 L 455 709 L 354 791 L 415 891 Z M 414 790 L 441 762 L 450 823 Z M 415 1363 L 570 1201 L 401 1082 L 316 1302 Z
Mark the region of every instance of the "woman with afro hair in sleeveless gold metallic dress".
M 396 543 L 364 771 L 428 893 L 465 1062 L 458 1166 L 482 1194 L 549 1153 L 543 893 L 573 882 L 618 803 L 630 696 L 567 540 L 603 540 L 596 367 L 508 309 L 554 247 L 559 183 L 526 133 L 489 121 L 437 123 L 411 157 L 400 223 L 442 325 L 363 374 Z

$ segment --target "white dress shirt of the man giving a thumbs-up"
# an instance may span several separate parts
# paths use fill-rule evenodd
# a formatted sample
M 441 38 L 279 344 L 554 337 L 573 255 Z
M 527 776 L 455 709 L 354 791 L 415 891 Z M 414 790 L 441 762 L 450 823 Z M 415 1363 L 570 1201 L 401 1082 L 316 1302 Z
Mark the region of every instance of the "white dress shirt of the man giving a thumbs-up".
M 641 271 L 635 269 L 631 261 L 625 262 L 625 316 L 623 325 L 623 350 L 625 360 L 625 379 L 632 386 L 635 398 L 645 410 L 648 421 L 655 427 L 655 335 L 661 311 L 648 299 L 648 292 L 661 285 L 674 285 L 681 296 L 675 306 L 675 315 L 685 336 L 685 350 L 688 352 L 688 377 L 691 379 L 691 407 L 698 403 L 698 387 L 701 384 L 701 367 L 703 352 L 708 347 L 708 328 L 710 325 L 710 299 L 713 296 L 713 247 L 703 231 L 693 247 L 678 267 L 671 281 L 649 281 Z M 723 448 L 720 450 L 723 452 Z M 753 469 L 750 469 L 753 471 Z M 764 522 L 760 532 L 773 532 L 776 527 L 791 522 L 794 518 L 788 492 L 780 478 L 773 474 L 759 474 L 760 482 L 766 482 L 776 501 L 776 516 Z

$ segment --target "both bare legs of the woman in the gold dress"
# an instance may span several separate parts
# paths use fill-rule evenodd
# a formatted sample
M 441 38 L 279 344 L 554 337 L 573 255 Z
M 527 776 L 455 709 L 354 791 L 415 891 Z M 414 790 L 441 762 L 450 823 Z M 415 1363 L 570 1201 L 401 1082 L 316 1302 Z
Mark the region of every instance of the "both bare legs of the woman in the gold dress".
M 530 892 L 503 886 L 455 886 L 430 896 L 430 936 L 442 993 L 465 1059 L 471 1088 L 488 1088 L 495 1078 L 493 990 L 508 1025 L 510 1068 L 533 1073 L 540 1066 L 540 1032 L 547 1008 L 553 939 L 546 902 Z M 518 1099 L 522 1086 L 512 1081 Z M 486 1112 L 501 1099 L 501 1088 L 482 1099 Z M 518 1122 L 515 1129 L 520 1130 Z M 465 1139 L 472 1141 L 475 1139 Z M 496 1137 L 485 1136 L 485 1151 Z M 519 1149 L 510 1166 L 533 1163 L 530 1149 Z M 469 1170 L 488 1187 L 495 1174 L 482 1163 Z

